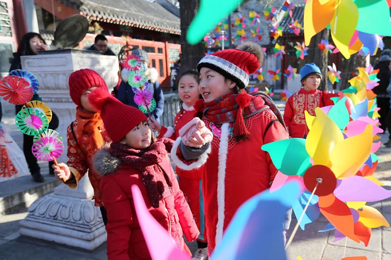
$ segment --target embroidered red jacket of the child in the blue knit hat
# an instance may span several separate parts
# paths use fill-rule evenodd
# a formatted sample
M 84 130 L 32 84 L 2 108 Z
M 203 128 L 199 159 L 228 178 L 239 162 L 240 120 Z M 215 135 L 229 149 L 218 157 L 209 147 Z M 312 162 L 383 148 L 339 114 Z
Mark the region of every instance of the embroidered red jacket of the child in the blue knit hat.
M 289 97 L 284 110 L 284 122 L 288 127 L 289 135 L 295 138 L 303 138 L 307 135 L 309 130 L 305 123 L 304 111 L 307 110 L 311 116 L 314 116 L 316 107 L 334 104 L 330 100 L 332 97 L 338 97 L 338 94 L 318 89 L 305 91 L 304 88 Z

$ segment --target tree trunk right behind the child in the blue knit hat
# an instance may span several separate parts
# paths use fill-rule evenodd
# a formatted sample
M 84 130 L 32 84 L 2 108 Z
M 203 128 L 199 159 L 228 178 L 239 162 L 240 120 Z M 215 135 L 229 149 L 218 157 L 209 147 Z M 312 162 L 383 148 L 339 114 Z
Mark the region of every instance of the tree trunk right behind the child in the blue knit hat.
M 320 90 L 325 90 L 327 86 L 327 63 L 328 63 L 328 55 L 322 55 L 323 51 L 319 49 L 318 43 L 321 43 L 321 40 L 328 39 L 330 37 L 330 30 L 324 29 L 323 31 L 317 33 L 314 37 L 312 37 L 309 46 L 308 46 L 308 57 L 319 66 L 322 72 L 322 81 L 319 86 Z M 308 61 L 310 62 L 310 61 Z

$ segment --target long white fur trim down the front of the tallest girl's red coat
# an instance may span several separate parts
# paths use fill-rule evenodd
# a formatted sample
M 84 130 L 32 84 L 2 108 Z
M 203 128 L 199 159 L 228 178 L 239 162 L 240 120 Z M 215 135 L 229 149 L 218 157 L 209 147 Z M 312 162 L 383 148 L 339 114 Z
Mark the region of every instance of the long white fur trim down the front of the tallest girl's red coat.
M 227 167 L 229 123 L 221 125 L 220 147 L 218 148 L 218 173 L 217 173 L 217 226 L 216 247 L 223 236 L 225 214 L 225 170 Z

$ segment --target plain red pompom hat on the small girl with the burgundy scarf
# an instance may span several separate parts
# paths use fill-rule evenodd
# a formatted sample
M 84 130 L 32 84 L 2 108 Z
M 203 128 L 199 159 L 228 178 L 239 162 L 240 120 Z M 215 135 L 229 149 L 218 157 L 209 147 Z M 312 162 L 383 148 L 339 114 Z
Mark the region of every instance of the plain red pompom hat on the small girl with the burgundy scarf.
M 119 142 L 136 125 L 147 120 L 139 109 L 117 100 L 104 88 L 92 91 L 88 100 L 100 111 L 106 131 L 113 142 Z

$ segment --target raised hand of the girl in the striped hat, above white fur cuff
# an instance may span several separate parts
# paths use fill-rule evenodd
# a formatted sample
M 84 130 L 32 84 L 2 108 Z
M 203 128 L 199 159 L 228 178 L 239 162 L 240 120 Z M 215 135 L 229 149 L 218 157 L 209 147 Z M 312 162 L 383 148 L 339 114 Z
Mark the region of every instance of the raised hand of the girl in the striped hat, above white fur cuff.
M 199 118 L 194 118 L 179 129 L 179 136 L 183 144 L 191 147 L 200 147 L 212 140 L 212 132 Z

